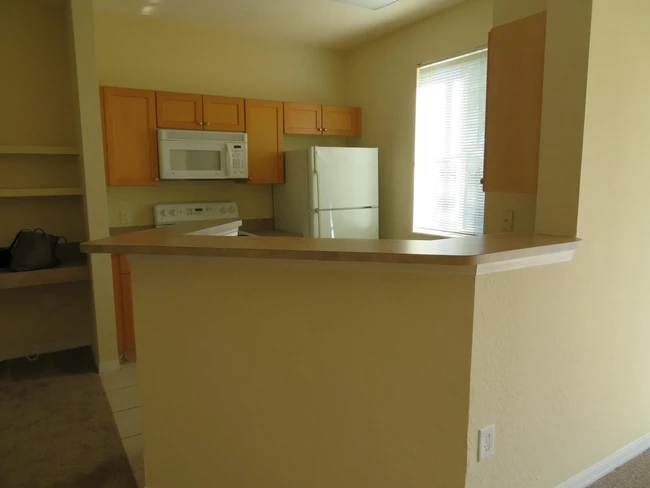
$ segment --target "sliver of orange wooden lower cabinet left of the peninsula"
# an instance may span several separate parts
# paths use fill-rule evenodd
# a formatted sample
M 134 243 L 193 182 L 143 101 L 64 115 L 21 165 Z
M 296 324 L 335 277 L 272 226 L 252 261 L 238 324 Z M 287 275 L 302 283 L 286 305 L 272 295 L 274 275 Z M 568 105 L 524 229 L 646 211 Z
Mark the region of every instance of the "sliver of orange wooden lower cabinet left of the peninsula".
M 126 256 L 114 254 L 112 260 L 117 350 L 127 361 L 132 362 L 136 360 L 136 352 L 131 273 Z

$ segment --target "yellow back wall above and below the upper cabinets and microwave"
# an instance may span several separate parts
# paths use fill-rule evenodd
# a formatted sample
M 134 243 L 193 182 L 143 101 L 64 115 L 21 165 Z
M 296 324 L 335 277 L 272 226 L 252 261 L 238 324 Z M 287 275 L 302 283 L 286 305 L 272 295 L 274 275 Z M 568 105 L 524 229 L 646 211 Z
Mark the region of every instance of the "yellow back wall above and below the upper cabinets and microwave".
M 219 35 L 215 29 L 180 21 L 103 12 L 95 14 L 95 44 L 102 85 L 307 103 L 345 101 L 343 55 L 333 51 Z M 306 147 L 308 139 L 293 142 L 293 147 Z M 318 140 L 343 145 L 336 139 Z M 143 225 L 152 223 L 155 203 L 206 199 L 232 199 L 242 217 L 268 218 L 273 215 L 271 196 L 270 185 L 232 182 L 109 188 L 110 225 L 122 225 L 121 209 L 131 210 L 133 225 Z

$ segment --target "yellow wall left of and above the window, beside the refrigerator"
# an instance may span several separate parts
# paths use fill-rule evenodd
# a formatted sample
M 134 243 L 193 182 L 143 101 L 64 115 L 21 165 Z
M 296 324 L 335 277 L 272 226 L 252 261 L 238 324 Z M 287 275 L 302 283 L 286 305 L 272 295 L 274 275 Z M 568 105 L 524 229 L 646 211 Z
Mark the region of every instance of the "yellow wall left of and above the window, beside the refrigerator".
M 365 146 L 379 147 L 380 233 L 413 235 L 416 70 L 487 44 L 492 2 L 470 0 L 349 53 L 348 102 L 363 107 Z

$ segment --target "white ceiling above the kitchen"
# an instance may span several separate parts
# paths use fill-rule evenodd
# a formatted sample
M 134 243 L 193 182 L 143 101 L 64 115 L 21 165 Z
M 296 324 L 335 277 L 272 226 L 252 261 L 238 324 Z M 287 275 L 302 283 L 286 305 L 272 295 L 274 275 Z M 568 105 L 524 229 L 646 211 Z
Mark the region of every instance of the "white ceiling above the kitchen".
M 93 0 L 99 11 L 196 22 L 247 36 L 348 49 L 464 0 L 399 0 L 367 10 L 332 0 Z

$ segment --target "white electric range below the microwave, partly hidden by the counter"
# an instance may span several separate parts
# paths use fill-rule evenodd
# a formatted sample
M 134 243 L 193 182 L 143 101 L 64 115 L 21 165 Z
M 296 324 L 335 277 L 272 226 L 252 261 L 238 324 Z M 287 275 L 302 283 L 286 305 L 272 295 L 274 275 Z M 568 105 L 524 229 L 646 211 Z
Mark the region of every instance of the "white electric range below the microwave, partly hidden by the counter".
M 218 219 L 237 220 L 191 234 L 246 237 L 253 235 L 239 230 L 242 221 L 239 220 L 239 207 L 235 202 L 160 203 L 153 207 L 153 220 L 156 227 Z

